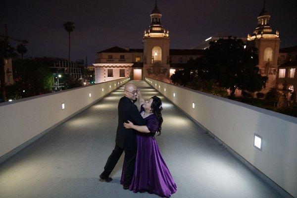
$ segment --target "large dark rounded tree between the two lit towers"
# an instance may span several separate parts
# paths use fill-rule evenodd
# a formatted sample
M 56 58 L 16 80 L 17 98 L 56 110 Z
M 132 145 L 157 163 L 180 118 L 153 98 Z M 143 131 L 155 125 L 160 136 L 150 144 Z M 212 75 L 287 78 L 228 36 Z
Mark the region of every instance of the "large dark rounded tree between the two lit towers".
M 256 92 L 265 87 L 267 77 L 259 74 L 256 48 L 245 49 L 241 39 L 231 37 L 209 44 L 201 61 L 202 79 L 216 79 L 219 86 L 231 90 L 231 97 L 236 89 Z

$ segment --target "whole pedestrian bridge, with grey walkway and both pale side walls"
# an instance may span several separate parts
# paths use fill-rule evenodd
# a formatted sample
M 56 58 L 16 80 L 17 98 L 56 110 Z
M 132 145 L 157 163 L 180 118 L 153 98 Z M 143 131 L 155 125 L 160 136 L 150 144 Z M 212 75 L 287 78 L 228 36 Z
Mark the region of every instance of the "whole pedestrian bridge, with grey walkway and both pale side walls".
M 99 181 L 127 82 L 1 104 L 0 198 L 157 197 L 123 190 L 123 156 L 113 181 Z M 172 198 L 297 197 L 296 118 L 148 78 L 132 83 L 163 101 L 156 140 L 177 184 Z

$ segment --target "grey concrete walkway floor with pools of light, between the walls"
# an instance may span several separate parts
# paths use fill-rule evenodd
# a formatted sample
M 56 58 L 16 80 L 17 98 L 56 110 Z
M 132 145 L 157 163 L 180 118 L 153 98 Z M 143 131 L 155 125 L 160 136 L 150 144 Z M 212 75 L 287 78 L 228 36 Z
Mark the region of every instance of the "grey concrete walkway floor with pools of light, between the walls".
M 146 82 L 134 83 L 145 98 L 163 101 L 156 140 L 178 187 L 172 198 L 281 197 Z M 156 198 L 123 190 L 123 156 L 111 183 L 98 179 L 114 148 L 122 95 L 123 87 L 0 164 L 0 198 Z

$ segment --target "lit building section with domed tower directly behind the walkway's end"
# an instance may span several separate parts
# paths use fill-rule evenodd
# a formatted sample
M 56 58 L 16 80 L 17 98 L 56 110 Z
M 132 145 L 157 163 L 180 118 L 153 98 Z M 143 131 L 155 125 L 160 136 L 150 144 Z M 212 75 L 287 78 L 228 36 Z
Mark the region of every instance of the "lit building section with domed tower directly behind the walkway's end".
M 150 14 L 150 26 L 144 32 L 143 49 L 113 47 L 99 51 L 95 66 L 96 83 L 130 76 L 144 76 L 170 82 L 170 76 L 184 69 L 190 59 L 204 55 L 203 49 L 169 49 L 169 31 L 161 25 L 161 12 L 155 4 Z

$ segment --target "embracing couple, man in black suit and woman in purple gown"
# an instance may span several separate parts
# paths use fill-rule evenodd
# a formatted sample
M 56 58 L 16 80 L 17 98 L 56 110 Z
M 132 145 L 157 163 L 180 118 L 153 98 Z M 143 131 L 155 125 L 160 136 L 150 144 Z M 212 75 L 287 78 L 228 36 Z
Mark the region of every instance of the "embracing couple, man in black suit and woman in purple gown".
M 121 176 L 123 188 L 168 198 L 177 188 L 154 138 L 156 133 L 157 136 L 161 134 L 161 99 L 153 96 L 145 101 L 132 83 L 126 84 L 124 94 L 118 104 L 115 148 L 99 177 L 105 182 L 112 181 L 109 175 L 125 152 Z M 137 98 L 140 111 L 134 104 Z

